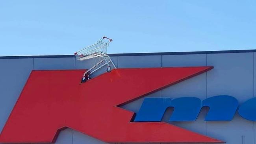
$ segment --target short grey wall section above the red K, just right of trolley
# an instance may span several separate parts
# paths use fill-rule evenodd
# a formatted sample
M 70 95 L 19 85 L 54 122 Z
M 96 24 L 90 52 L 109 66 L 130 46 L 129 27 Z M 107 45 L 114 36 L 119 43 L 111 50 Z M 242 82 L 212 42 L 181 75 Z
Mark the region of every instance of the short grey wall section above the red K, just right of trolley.
M 119 68 L 161 67 L 161 55 L 119 56 Z

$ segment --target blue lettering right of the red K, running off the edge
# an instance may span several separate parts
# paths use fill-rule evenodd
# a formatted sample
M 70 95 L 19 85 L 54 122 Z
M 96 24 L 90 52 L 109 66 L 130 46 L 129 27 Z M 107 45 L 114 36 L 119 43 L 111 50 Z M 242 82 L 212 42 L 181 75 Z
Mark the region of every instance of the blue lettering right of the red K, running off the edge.
M 256 103 L 256 99 L 241 105 L 239 114 L 246 119 L 256 120 L 256 106 L 253 103 Z M 202 107 L 210 107 L 205 117 L 206 121 L 232 120 L 238 101 L 232 96 L 225 95 L 213 96 L 203 101 L 195 97 L 145 98 L 134 121 L 160 122 L 168 107 L 174 108 L 170 121 L 195 121 Z

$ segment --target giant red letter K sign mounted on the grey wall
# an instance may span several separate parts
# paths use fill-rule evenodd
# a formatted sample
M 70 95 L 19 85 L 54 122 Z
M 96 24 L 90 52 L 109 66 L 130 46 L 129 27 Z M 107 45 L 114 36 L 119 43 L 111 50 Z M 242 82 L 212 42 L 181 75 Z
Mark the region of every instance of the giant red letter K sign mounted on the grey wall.
M 69 127 L 111 143 L 222 143 L 165 122 L 131 122 L 134 113 L 118 107 L 212 68 L 115 69 L 85 83 L 84 70 L 33 70 L 0 142 L 55 142 Z

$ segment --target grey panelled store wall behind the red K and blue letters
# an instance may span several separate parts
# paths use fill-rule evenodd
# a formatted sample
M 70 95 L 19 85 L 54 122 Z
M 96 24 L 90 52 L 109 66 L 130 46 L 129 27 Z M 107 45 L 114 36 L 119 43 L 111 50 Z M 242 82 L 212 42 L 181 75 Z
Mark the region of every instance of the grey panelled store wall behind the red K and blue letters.
M 145 97 L 197 97 L 201 100 L 217 95 L 234 96 L 239 105 L 254 98 L 256 50 L 216 52 L 174 52 L 143 54 L 110 54 L 117 68 L 214 66 L 208 72 Z M 0 57 L 0 130 L 3 129 L 15 102 L 19 98 L 32 70 L 86 69 L 95 64 L 94 59 L 78 61 L 73 55 Z M 93 77 L 106 72 L 101 68 Z M 152 81 L 158 74 L 152 76 Z M 144 98 L 123 105 L 122 108 L 137 113 Z M 208 109 L 203 108 L 197 120 L 169 122 L 173 109 L 167 109 L 164 122 L 202 135 L 223 140 L 227 144 L 254 144 L 254 121 L 242 118 L 237 112 L 231 121 L 205 121 Z M 73 129 L 60 132 L 56 144 L 105 144 Z

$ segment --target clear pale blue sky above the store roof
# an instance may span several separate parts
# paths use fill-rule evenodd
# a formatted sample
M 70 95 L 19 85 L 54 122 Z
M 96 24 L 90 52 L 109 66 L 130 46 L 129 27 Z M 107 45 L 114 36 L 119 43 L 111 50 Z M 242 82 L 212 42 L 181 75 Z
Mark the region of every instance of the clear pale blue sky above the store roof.
M 256 0 L 1 0 L 0 56 L 256 49 Z

